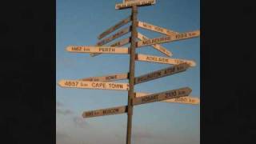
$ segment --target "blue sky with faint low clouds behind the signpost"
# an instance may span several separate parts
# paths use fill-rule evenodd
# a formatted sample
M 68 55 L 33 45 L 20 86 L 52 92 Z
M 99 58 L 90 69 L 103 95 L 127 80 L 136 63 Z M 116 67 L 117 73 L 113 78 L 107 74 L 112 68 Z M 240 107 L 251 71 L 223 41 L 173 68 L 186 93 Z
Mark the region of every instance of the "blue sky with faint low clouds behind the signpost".
M 56 19 L 56 133 L 57 144 L 120 144 L 126 140 L 126 114 L 82 118 L 82 112 L 114 106 L 126 106 L 125 90 L 86 90 L 59 87 L 61 79 L 96 77 L 129 71 L 128 54 L 69 53 L 66 46 L 94 46 L 98 34 L 130 15 L 130 9 L 115 10 L 122 0 L 57 0 Z M 138 8 L 138 20 L 177 32 L 200 29 L 199 0 L 157 0 L 154 6 Z M 127 24 L 126 26 L 129 26 Z M 122 26 L 125 28 L 126 26 Z M 121 29 L 122 29 L 121 28 Z M 119 29 L 119 30 L 121 30 Z M 148 38 L 164 36 L 138 28 Z M 114 34 L 114 33 L 112 33 Z M 110 34 L 111 35 L 111 34 Z M 126 34 L 122 38 L 127 38 Z M 110 42 L 113 43 L 113 42 Z M 128 47 L 129 45 L 126 45 Z M 200 97 L 200 38 L 162 44 L 172 58 L 194 60 L 197 66 L 179 74 L 158 78 L 135 86 L 135 91 L 158 93 L 189 86 L 193 97 Z M 151 46 L 138 54 L 166 57 Z M 135 76 L 170 65 L 136 62 Z M 118 82 L 128 82 L 122 80 Z M 198 144 L 200 142 L 200 105 L 153 102 L 134 106 L 133 143 Z

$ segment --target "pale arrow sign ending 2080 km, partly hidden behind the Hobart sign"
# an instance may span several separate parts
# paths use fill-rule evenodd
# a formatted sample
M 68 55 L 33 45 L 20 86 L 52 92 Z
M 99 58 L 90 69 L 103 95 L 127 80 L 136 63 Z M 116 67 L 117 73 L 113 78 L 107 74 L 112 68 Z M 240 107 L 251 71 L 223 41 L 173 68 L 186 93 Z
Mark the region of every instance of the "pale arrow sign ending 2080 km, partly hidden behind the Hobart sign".
M 149 93 L 135 93 L 135 98 L 144 97 L 146 95 L 149 95 Z M 174 98 L 174 99 L 166 99 L 161 102 L 174 102 L 174 103 L 197 105 L 200 103 L 200 99 L 195 98 L 195 97 L 186 96 L 186 97 L 180 97 L 180 98 Z

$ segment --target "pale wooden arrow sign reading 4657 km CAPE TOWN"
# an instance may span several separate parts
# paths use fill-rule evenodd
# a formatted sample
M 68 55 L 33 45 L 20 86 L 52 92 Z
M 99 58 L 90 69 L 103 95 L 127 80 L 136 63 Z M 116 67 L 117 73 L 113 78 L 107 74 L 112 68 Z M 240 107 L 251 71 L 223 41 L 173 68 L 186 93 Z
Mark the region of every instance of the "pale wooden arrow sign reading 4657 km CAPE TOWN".
M 86 82 L 78 80 L 61 80 L 59 86 L 78 89 L 100 89 L 100 90 L 129 90 L 128 83 L 115 82 Z

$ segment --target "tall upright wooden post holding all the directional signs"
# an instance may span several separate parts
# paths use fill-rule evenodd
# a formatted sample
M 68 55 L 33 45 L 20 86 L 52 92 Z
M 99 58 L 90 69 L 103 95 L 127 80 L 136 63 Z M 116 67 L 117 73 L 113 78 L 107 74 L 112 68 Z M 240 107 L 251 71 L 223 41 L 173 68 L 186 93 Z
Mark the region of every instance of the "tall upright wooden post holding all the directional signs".
M 134 69 L 135 69 L 135 47 L 137 39 L 137 6 L 132 7 L 132 26 L 131 26 L 131 42 L 130 42 L 130 73 L 129 73 L 129 85 L 130 90 L 128 91 L 128 110 L 127 110 L 127 133 L 126 133 L 126 144 L 130 144 L 131 138 L 131 125 L 133 115 L 133 98 L 134 98 Z

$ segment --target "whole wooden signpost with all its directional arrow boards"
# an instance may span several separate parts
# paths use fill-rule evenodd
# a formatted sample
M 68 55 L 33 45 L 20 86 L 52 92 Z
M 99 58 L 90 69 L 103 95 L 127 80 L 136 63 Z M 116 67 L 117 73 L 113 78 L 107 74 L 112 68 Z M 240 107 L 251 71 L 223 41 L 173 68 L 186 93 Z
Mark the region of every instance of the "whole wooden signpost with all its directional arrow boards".
M 96 90 L 126 90 L 128 91 L 127 106 L 117 106 L 107 109 L 90 110 L 82 113 L 83 118 L 93 118 L 104 115 L 112 114 L 127 114 L 127 127 L 126 127 L 126 144 L 131 143 L 131 128 L 134 106 L 141 105 L 150 102 L 178 102 L 186 104 L 198 104 L 199 98 L 189 97 L 191 89 L 189 87 L 182 87 L 177 90 L 167 90 L 156 94 L 146 93 L 134 93 L 134 85 L 142 82 L 152 81 L 156 78 L 163 78 L 171 74 L 178 74 L 186 71 L 189 67 L 196 66 L 196 63 L 191 60 L 175 59 L 158 57 L 154 55 L 136 54 L 136 48 L 142 46 L 153 46 L 155 50 L 166 54 L 166 56 L 172 56 L 170 50 L 159 45 L 160 43 L 174 42 L 178 40 L 197 38 L 200 36 L 200 30 L 195 30 L 186 33 L 178 33 L 174 30 L 168 30 L 160 26 L 154 26 L 146 22 L 138 21 L 138 7 L 151 6 L 155 4 L 155 0 L 123 0 L 122 3 L 115 5 L 115 9 L 122 10 L 131 8 L 131 15 L 122 21 L 118 22 L 114 26 L 102 32 L 98 35 L 98 39 L 106 37 L 106 35 L 118 30 L 120 27 L 131 22 L 131 26 L 128 26 L 122 30 L 118 30 L 115 34 L 104 38 L 97 42 L 96 46 L 67 46 L 66 50 L 73 53 L 89 53 L 91 56 L 98 54 L 130 54 L 130 68 L 129 72 L 121 74 L 109 74 L 100 77 L 81 78 L 78 80 L 61 80 L 58 85 L 63 88 L 78 88 L 78 89 L 96 89 Z M 142 29 L 152 30 L 160 34 L 166 34 L 165 37 L 160 38 L 146 38 L 146 36 L 138 33 L 137 27 Z M 118 42 L 114 42 L 110 46 L 105 46 L 106 43 L 113 41 L 116 38 L 121 37 L 131 31 L 129 38 L 124 38 Z M 141 41 L 138 42 L 137 38 Z M 122 47 L 130 43 L 129 48 Z M 170 64 L 174 66 L 167 67 L 162 70 L 156 70 L 149 74 L 143 74 L 135 78 L 135 61 L 144 62 L 157 62 Z M 113 81 L 128 79 L 129 83 L 117 83 Z

